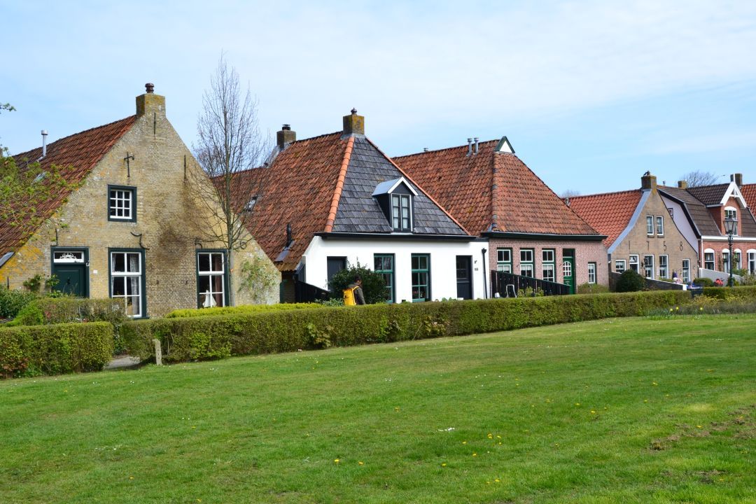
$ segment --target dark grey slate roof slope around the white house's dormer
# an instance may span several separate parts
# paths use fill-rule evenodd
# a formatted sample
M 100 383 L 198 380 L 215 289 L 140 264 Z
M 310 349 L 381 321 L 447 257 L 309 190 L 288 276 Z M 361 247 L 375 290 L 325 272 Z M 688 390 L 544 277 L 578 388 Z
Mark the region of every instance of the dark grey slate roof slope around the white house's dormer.
M 367 138 L 356 137 L 333 222 L 333 232 L 391 233 L 391 224 L 372 195 L 381 182 L 401 177 L 406 178 L 406 175 Z M 466 234 L 446 212 L 429 199 L 421 187 L 408 182 L 417 191 L 417 196 L 414 197 L 415 234 Z

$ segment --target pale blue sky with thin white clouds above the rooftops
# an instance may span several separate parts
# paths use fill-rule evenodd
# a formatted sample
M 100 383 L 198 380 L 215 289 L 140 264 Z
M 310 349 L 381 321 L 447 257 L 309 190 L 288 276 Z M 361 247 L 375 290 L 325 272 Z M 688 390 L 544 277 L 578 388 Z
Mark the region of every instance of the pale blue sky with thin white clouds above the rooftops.
M 756 2 L 0 0 L 0 144 L 133 115 L 153 82 L 191 147 L 221 54 L 274 138 L 342 127 L 389 156 L 506 135 L 556 193 L 756 182 Z

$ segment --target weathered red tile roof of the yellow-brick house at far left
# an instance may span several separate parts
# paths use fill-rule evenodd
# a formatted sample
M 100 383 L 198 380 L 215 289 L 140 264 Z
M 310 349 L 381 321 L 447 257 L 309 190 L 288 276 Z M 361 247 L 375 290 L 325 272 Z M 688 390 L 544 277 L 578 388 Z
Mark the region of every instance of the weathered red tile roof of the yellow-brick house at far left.
M 127 117 L 110 124 L 81 131 L 48 144 L 47 155 L 39 164 L 42 169 L 49 169 L 56 165 L 61 169 L 61 175 L 69 184 L 78 184 L 91 172 L 91 169 L 113 147 L 126 131 L 132 127 L 136 116 Z M 42 147 L 15 154 L 20 169 L 29 162 L 34 162 L 42 156 Z M 37 206 L 37 215 L 44 221 L 62 205 L 71 190 L 62 190 L 55 194 L 42 206 Z M 11 226 L 8 222 L 0 222 L 0 253 L 18 249 L 36 229 L 21 229 Z

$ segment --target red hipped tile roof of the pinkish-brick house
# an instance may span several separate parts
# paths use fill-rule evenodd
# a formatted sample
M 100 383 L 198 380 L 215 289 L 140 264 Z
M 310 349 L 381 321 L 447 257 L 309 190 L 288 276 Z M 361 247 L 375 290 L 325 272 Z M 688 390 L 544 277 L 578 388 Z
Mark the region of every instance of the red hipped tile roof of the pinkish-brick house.
M 596 235 L 590 225 L 512 153 L 497 153 L 499 141 L 395 157 L 472 233 Z M 535 217 L 535 218 L 534 218 Z

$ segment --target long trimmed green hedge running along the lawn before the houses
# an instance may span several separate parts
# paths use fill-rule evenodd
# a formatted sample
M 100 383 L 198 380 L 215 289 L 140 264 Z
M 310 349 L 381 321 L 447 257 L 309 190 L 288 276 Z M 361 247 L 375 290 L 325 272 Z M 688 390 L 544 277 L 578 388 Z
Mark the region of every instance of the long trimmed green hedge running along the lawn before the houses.
M 166 362 L 465 335 L 627 317 L 690 301 L 684 291 L 569 295 L 267 311 L 124 323 L 129 354 Z

